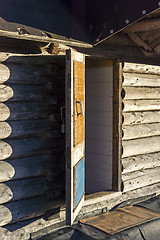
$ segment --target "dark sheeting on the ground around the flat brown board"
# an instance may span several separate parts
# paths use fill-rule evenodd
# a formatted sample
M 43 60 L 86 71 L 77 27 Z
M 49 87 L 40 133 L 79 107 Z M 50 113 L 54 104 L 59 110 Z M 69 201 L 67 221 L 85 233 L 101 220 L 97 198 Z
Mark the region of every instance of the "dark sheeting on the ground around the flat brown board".
M 153 211 L 160 215 L 160 195 L 151 198 L 147 201 L 141 202 L 135 207 L 141 207 L 146 211 Z M 122 208 L 122 209 L 125 209 Z M 102 239 L 123 239 L 123 240 L 157 240 L 159 239 L 159 229 L 160 229 L 160 216 L 156 219 L 151 219 L 145 223 L 138 224 L 136 226 L 128 227 L 123 231 L 118 231 L 114 234 L 109 234 L 104 232 L 94 226 L 89 224 L 81 223 L 75 224 L 69 227 L 63 227 L 57 231 L 50 234 L 46 234 L 41 237 L 31 238 L 34 240 L 102 240 Z

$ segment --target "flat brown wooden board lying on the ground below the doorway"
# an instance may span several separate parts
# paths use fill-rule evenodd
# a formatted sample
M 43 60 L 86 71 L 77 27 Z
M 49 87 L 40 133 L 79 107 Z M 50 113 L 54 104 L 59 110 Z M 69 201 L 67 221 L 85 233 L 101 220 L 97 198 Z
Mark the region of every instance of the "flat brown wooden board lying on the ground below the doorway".
M 84 219 L 81 222 L 112 235 L 159 217 L 160 213 L 152 210 L 137 206 L 127 206 L 99 216 Z

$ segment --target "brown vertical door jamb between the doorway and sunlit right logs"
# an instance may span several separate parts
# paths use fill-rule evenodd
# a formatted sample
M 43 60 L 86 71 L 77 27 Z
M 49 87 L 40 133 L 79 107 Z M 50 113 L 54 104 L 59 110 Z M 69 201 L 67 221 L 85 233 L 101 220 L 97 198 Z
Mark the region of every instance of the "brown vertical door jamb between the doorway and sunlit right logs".
M 122 158 L 122 63 L 113 63 L 113 164 L 112 188 L 120 191 L 121 188 L 121 158 Z

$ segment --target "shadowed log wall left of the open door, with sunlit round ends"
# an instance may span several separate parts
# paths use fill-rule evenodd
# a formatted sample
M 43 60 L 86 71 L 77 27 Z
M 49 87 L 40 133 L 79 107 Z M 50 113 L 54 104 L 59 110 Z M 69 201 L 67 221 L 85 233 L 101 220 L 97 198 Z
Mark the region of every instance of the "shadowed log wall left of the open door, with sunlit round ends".
M 0 226 L 64 197 L 64 59 L 0 53 Z

